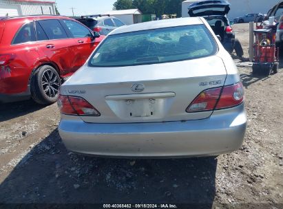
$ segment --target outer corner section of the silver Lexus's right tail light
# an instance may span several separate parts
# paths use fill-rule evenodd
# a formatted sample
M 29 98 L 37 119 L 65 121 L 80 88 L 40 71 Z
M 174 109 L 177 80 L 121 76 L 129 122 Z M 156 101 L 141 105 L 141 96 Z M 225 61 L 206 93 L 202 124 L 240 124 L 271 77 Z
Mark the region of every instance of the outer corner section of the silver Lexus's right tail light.
M 241 83 L 224 87 L 216 109 L 235 107 L 244 100 L 244 87 Z

